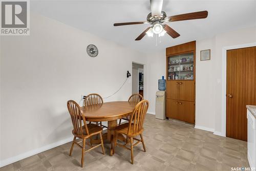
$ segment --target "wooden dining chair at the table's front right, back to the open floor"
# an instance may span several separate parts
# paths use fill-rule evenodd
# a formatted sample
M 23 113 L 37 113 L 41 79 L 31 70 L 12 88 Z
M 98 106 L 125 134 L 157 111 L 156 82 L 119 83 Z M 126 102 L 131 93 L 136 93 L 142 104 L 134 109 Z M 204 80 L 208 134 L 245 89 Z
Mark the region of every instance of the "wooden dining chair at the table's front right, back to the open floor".
M 134 108 L 133 113 L 131 115 L 131 118 L 129 120 L 129 123 L 123 123 L 116 127 L 115 129 L 115 144 L 113 148 L 113 154 L 115 154 L 115 148 L 116 145 L 123 147 L 125 149 L 129 149 L 131 151 L 131 160 L 133 164 L 133 147 L 136 146 L 139 142 L 142 142 L 144 151 L 146 152 L 146 147 L 144 144 L 142 133 L 144 131 L 143 129 L 143 123 L 145 120 L 145 115 L 148 109 L 148 101 L 142 100 L 140 101 Z M 117 143 L 118 134 L 123 134 L 126 137 L 128 137 L 129 141 L 126 142 L 124 145 Z M 140 135 L 141 139 L 135 138 L 136 136 Z M 127 139 L 127 138 L 126 138 Z M 133 141 L 137 140 L 137 142 L 134 144 Z M 131 148 L 126 147 L 127 144 L 131 144 Z

